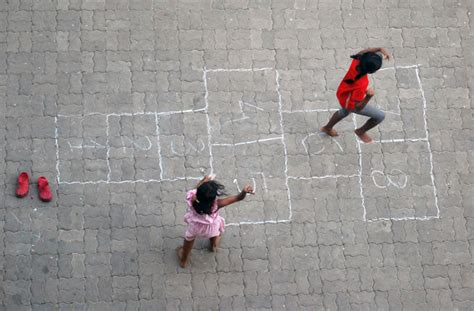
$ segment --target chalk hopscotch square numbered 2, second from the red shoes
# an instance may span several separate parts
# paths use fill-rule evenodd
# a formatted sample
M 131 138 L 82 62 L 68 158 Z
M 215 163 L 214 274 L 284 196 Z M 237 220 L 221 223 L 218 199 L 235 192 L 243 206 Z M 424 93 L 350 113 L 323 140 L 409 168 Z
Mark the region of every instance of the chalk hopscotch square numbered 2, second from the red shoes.
M 149 181 L 160 176 L 154 114 L 108 116 L 109 181 Z

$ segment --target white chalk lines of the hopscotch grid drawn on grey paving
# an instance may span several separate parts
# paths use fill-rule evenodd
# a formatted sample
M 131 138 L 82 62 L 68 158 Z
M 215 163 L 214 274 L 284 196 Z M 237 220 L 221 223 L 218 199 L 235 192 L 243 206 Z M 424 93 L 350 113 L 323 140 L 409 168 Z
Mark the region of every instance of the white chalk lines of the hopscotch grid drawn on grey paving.
M 57 182 L 58 184 L 123 184 L 123 183 L 149 183 L 149 182 L 164 182 L 164 181 L 178 181 L 178 180 L 200 180 L 201 177 L 177 177 L 173 179 L 165 179 L 163 178 L 163 164 L 162 164 L 162 158 L 161 158 L 161 145 L 160 145 L 160 135 L 159 135 L 159 117 L 161 115 L 172 115 L 172 114 L 183 114 L 183 113 L 196 113 L 196 112 L 204 112 L 205 117 L 206 117 L 206 123 L 207 123 L 207 131 L 208 131 L 208 150 L 209 150 L 209 167 L 210 167 L 210 173 L 214 173 L 214 168 L 213 168 L 213 154 L 212 154 L 212 146 L 238 146 L 238 145 L 243 145 L 243 144 L 253 144 L 253 143 L 258 143 L 258 142 L 264 142 L 264 141 L 271 141 L 271 140 L 281 140 L 284 148 L 284 154 L 285 154 L 285 182 L 286 182 L 286 187 L 287 187 L 287 197 L 288 197 L 288 209 L 289 209 L 289 217 L 288 219 L 282 219 L 282 220 L 262 220 L 262 221 L 244 221 L 244 222 L 236 222 L 236 223 L 229 223 L 227 226 L 237 226 L 237 225 L 242 225 L 242 224 L 266 224 L 266 223 L 285 223 L 285 222 L 290 222 L 292 219 L 292 207 L 291 207 L 291 191 L 289 187 L 289 180 L 311 180 L 311 179 L 325 179 L 325 178 L 355 178 L 358 177 L 359 179 L 359 188 L 360 188 L 360 197 L 361 197 L 361 204 L 363 207 L 363 215 L 362 218 L 364 221 L 367 222 L 374 222 L 374 221 L 400 221 L 400 220 L 430 220 L 430 219 L 436 219 L 440 217 L 440 210 L 438 206 L 438 196 L 437 196 L 437 189 L 436 189 L 436 184 L 434 181 L 434 174 L 433 174 L 433 154 L 431 150 L 431 145 L 429 142 L 429 132 L 428 132 L 428 124 L 427 124 L 427 115 L 426 115 L 426 98 L 425 94 L 423 91 L 421 79 L 419 76 L 419 66 L 420 65 L 410 65 L 410 66 L 394 66 L 394 67 L 386 67 L 381 70 L 397 70 L 397 69 L 414 69 L 416 73 L 416 78 L 418 82 L 418 87 L 421 93 L 422 97 L 422 102 L 423 102 L 423 119 L 424 119 L 424 128 L 425 128 L 425 133 L 426 137 L 423 138 L 409 138 L 409 139 L 386 139 L 386 140 L 379 140 L 375 141 L 375 143 L 400 143 L 400 142 L 426 142 L 428 146 L 428 151 L 429 151 L 429 158 L 430 158 L 430 177 L 432 181 L 432 186 L 433 186 L 433 194 L 434 194 L 434 199 L 435 199 L 435 207 L 436 207 L 436 215 L 433 216 L 408 216 L 408 217 L 379 217 L 379 218 L 370 218 L 367 219 L 367 210 L 365 206 L 365 196 L 364 196 L 364 191 L 363 191 L 363 185 L 362 185 L 362 148 L 361 148 L 361 142 L 356 139 L 356 144 L 357 144 L 357 152 L 359 154 L 359 169 L 358 169 L 358 174 L 352 174 L 352 175 L 324 175 L 324 176 L 311 176 L 311 177 L 299 177 L 299 176 L 289 176 L 288 175 L 288 154 L 287 154 L 287 146 L 285 142 L 285 131 L 284 131 L 284 114 L 291 114 L 291 113 L 308 113 L 308 112 L 334 112 L 337 111 L 338 109 L 302 109 L 302 110 L 283 110 L 282 109 L 282 95 L 280 92 L 280 75 L 278 70 L 273 69 L 273 68 L 234 68 L 234 69 L 203 69 L 203 83 L 204 83 L 204 88 L 205 88 L 205 107 L 204 108 L 199 108 L 199 109 L 188 109 L 188 110 L 176 110 L 176 111 L 167 111 L 167 112 L 136 112 L 136 113 L 100 113 L 100 112 L 93 112 L 93 113 L 87 113 L 87 114 L 76 114 L 76 115 L 61 115 L 58 114 L 55 117 L 55 145 L 56 145 L 56 171 L 57 171 Z M 207 74 L 208 73 L 213 73 L 213 72 L 253 72 L 253 71 L 275 71 L 275 81 L 276 81 L 276 91 L 278 94 L 278 107 L 279 107 L 279 115 L 280 115 L 280 127 L 282 130 L 282 135 L 277 136 L 277 137 L 271 137 L 271 138 L 265 138 L 265 139 L 259 139 L 259 140 L 254 140 L 254 141 L 248 141 L 248 142 L 239 142 L 235 144 L 213 144 L 212 143 L 212 137 L 211 137 L 211 124 L 210 124 L 210 118 L 209 118 L 209 92 L 208 92 L 208 84 L 207 84 Z M 58 139 L 59 139 L 59 131 L 58 131 L 58 118 L 60 117 L 86 117 L 86 116 L 91 116 L 91 115 L 103 115 L 106 117 L 106 135 L 107 135 L 107 146 L 108 146 L 108 118 L 109 116 L 137 116 L 137 115 L 152 115 L 155 117 L 155 123 L 156 123 L 156 135 L 157 135 L 157 144 L 158 144 L 158 158 L 159 158 L 159 167 L 160 167 L 160 178 L 159 179 L 147 179 L 147 180 L 125 180 L 125 181 L 111 181 L 110 180 L 110 164 L 109 164 L 109 159 L 107 155 L 107 165 L 108 165 L 108 175 L 107 175 L 107 180 L 99 180 L 99 181 L 62 181 L 61 180 L 61 175 L 60 175 L 60 159 L 59 159 L 59 144 L 58 144 Z M 355 116 L 353 115 L 353 123 L 354 126 L 356 127 L 356 119 Z M 108 146 L 107 154 L 109 154 L 110 146 Z

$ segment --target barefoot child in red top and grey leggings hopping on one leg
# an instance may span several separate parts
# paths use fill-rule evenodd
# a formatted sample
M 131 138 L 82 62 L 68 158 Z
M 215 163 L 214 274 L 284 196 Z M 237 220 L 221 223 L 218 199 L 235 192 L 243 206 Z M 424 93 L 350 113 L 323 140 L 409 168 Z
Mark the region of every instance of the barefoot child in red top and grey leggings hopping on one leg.
M 390 55 L 384 48 L 370 48 L 352 55 L 351 58 L 353 58 L 351 67 L 336 93 L 341 109 L 334 113 L 328 124 L 321 128 L 321 131 L 329 136 L 337 136 L 337 132 L 333 129 L 334 125 L 353 112 L 370 117 L 364 125 L 355 130 L 357 136 L 364 143 L 370 143 L 372 138 L 366 132 L 382 122 L 385 114 L 383 111 L 367 105 L 375 95 L 374 90 L 368 88 L 367 74 L 379 70 L 382 67 L 382 59 L 390 59 Z

